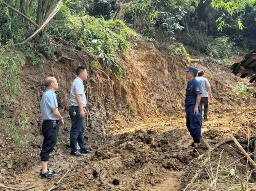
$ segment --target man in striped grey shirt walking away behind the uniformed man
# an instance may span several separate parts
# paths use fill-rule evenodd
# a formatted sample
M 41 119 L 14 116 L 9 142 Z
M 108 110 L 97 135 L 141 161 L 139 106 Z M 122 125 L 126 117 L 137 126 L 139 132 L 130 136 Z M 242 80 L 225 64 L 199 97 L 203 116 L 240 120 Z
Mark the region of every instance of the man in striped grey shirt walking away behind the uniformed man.
M 209 93 L 209 98 L 212 100 L 212 90 L 211 90 L 211 85 L 208 81 L 208 79 L 202 77 L 204 75 L 204 71 L 200 70 L 198 71 L 198 77 L 196 78 L 200 83 L 202 87 L 202 96 L 201 96 L 201 116 L 202 116 L 202 106 L 204 105 L 204 121 L 208 121 L 208 93 Z M 207 92 L 208 91 L 208 92 Z M 201 121 L 202 124 L 202 121 Z

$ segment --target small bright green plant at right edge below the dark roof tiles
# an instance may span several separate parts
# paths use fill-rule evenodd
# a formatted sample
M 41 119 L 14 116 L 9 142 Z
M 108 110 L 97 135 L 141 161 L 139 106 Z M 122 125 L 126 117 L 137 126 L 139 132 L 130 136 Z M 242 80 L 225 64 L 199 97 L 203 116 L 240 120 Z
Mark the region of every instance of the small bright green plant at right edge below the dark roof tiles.
M 256 88 L 248 87 L 244 82 L 238 82 L 232 90 L 234 97 L 246 97 L 256 92 Z

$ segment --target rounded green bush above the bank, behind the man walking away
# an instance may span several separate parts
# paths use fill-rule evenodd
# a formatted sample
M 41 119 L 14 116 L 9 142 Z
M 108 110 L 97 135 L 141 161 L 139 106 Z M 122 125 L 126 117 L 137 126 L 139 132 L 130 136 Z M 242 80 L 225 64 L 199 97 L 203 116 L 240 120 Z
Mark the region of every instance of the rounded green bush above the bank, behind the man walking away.
M 208 53 L 216 58 L 228 58 L 234 45 L 228 42 L 228 37 L 217 37 L 208 45 Z

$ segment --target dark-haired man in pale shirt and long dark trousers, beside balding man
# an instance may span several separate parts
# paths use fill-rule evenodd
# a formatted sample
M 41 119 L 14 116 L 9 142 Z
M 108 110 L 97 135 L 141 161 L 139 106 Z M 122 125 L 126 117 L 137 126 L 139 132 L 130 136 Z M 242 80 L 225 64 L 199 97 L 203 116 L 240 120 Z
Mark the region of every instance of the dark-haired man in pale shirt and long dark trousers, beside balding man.
M 76 69 L 76 78 L 74 79 L 70 88 L 70 107 L 69 115 L 71 118 L 71 130 L 70 130 L 70 154 L 73 156 L 81 157 L 84 154 L 92 154 L 88 150 L 84 142 L 84 117 L 87 113 L 86 96 L 84 92 L 84 83 L 87 79 L 87 71 L 85 67 L 80 66 Z M 77 150 L 77 143 L 80 146 L 80 152 Z

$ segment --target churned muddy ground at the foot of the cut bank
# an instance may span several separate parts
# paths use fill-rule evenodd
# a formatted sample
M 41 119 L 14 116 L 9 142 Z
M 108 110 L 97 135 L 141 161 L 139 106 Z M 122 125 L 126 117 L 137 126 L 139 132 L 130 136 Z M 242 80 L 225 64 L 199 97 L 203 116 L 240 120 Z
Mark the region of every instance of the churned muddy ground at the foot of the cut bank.
M 211 107 L 212 110 L 216 109 L 214 104 L 211 104 Z M 219 114 L 212 111 L 210 120 L 203 123 L 202 134 L 206 140 L 228 138 L 232 127 L 229 122 L 239 111 L 242 113 L 237 116 L 233 124 L 233 134 L 239 138 L 246 138 L 249 130 L 249 138 L 254 136 L 255 115 L 244 112 L 248 109 L 255 112 L 253 107 L 232 108 L 223 105 L 222 109 L 227 112 L 222 112 L 221 126 L 217 120 Z M 245 118 L 248 119 L 249 128 L 247 128 L 248 124 L 242 120 Z M 19 187 L 36 185 L 32 190 L 46 191 L 66 173 L 70 168 L 70 163 L 74 161 L 69 173 L 56 190 L 182 190 L 194 175 L 193 171 L 200 168 L 202 162 L 197 159 L 198 153 L 203 154 L 206 152 L 206 148 L 203 144 L 199 144 L 196 148 L 189 147 L 192 139 L 184 126 L 184 116 L 174 116 L 171 121 L 168 118 L 152 121 L 153 119 L 150 123 L 145 122 L 130 127 L 129 131 L 127 129 L 124 129 L 124 132 L 119 131 L 119 135 L 106 136 L 106 141 L 103 144 L 96 142 L 92 145 L 89 143 L 90 149 L 95 153 L 84 158 L 69 156 L 67 147 L 57 145 L 51 154 L 49 163 L 52 169 L 60 169 L 59 175 L 54 179 L 40 179 L 40 163 L 36 160 L 36 163 L 29 167 L 29 171 L 20 170 L 22 172 L 19 173 L 15 173 L 11 169 L 1 171 L 1 182 L 4 185 Z M 214 146 L 211 143 L 210 145 Z M 230 183 L 230 177 L 224 178 L 228 175 L 224 167 L 231 164 L 229 168 L 236 169 L 235 175 L 240 180 L 246 180 L 246 160 L 240 159 L 243 155 L 233 143 L 229 143 L 221 146 L 211 155 L 212 168 L 216 167 L 214 165 L 217 165 L 216 160 L 222 150 L 221 165 L 223 168 L 222 179 L 224 179 L 222 187 L 225 190 L 225 186 L 227 189 L 228 186 L 231 187 L 232 183 Z M 28 160 L 38 154 L 39 150 L 31 151 L 31 157 L 29 156 Z M 28 156 L 28 154 L 26 155 Z M 239 163 L 232 164 L 237 159 L 240 159 Z M 20 165 L 19 168 L 22 169 L 24 163 Z M 250 165 L 248 171 L 253 172 Z M 231 179 L 235 179 L 235 175 Z M 204 184 L 207 180 L 209 180 L 207 173 L 202 173 L 197 182 L 200 190 L 206 190 L 207 185 Z M 203 183 L 200 183 L 201 181 Z M 253 183 L 254 181 L 252 173 L 248 182 Z M 198 190 L 197 184 L 194 185 L 197 189 L 192 190 Z M 239 187 L 239 182 L 232 186 L 234 185 Z

